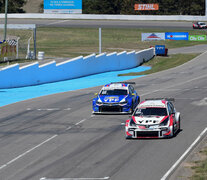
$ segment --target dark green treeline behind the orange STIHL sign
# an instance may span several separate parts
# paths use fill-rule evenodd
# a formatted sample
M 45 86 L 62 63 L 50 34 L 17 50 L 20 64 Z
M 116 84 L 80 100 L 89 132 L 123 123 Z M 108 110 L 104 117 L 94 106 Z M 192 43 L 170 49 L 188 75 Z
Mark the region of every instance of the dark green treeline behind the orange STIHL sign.
M 158 11 L 135 11 L 135 4 L 159 4 Z M 205 15 L 205 0 L 83 0 L 83 14 Z

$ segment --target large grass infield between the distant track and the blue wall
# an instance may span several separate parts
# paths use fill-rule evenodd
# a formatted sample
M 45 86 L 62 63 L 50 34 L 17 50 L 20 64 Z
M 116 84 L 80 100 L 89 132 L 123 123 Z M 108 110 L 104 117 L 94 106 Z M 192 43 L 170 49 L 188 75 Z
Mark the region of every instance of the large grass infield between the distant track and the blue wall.
M 143 32 L 169 32 L 170 29 L 102 29 L 102 52 L 121 52 L 123 50 L 142 50 L 150 46 L 166 45 L 177 48 L 205 44 L 193 41 L 153 41 L 142 42 Z M 205 31 L 190 30 L 189 34 L 205 34 Z M 37 29 L 37 50 L 49 57 L 86 56 L 99 51 L 98 28 L 46 28 Z

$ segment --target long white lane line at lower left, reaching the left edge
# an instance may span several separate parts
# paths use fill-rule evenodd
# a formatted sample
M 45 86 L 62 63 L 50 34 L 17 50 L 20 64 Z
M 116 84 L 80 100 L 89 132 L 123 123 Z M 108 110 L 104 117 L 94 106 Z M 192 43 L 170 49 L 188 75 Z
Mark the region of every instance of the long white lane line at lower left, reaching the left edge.
M 7 166 L 10 165 L 10 164 L 12 164 L 13 162 L 17 161 L 17 160 L 20 159 L 21 157 L 27 155 L 28 153 L 32 152 L 33 150 L 37 149 L 38 147 L 42 146 L 43 144 L 45 144 L 45 143 L 51 141 L 52 139 L 56 138 L 57 136 L 58 136 L 58 135 L 56 134 L 56 135 L 54 135 L 54 136 L 48 138 L 47 140 L 43 141 L 42 143 L 38 144 L 37 146 L 35 146 L 35 147 L 29 149 L 28 151 L 26 151 L 26 152 L 20 154 L 20 155 L 17 156 L 16 158 L 14 158 L 14 159 L 12 159 L 11 161 L 7 162 L 6 164 L 0 166 L 0 170 L 3 169 L 3 168 L 5 168 L 5 167 L 7 167 Z

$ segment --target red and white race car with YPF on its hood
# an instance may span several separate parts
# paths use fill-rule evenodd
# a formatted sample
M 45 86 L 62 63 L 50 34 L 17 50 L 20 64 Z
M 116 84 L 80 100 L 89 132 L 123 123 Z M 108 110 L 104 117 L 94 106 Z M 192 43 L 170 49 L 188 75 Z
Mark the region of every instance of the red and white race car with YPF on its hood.
M 125 124 L 126 139 L 167 138 L 180 131 L 180 113 L 172 98 L 146 99 Z

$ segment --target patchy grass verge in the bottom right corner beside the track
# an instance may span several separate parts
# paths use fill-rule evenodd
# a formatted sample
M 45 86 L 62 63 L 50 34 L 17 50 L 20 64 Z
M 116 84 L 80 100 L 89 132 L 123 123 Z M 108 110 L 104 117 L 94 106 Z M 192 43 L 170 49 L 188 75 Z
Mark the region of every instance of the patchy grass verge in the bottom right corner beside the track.
M 201 151 L 205 155 L 203 161 L 195 162 L 195 166 L 192 167 L 194 175 L 190 178 L 191 180 L 206 180 L 207 179 L 207 148 Z

